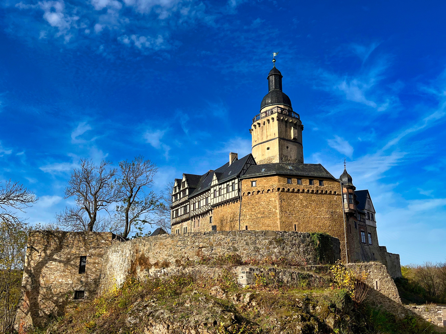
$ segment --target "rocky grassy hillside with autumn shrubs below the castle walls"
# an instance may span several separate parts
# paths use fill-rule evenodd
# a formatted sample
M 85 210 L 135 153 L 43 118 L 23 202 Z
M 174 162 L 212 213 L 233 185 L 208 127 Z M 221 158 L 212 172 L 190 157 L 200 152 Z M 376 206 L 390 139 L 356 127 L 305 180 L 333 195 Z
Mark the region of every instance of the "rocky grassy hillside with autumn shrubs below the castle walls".
M 264 265 L 266 270 L 243 288 L 230 263 L 206 265 L 221 274 L 144 282 L 129 277 L 120 288 L 70 304 L 65 316 L 28 333 L 435 333 L 431 324 L 412 315 L 398 319 L 374 309 L 367 298 L 353 301 L 346 289 L 332 289 L 324 266 L 284 266 L 297 277 L 287 284 L 278 277 L 280 264 Z

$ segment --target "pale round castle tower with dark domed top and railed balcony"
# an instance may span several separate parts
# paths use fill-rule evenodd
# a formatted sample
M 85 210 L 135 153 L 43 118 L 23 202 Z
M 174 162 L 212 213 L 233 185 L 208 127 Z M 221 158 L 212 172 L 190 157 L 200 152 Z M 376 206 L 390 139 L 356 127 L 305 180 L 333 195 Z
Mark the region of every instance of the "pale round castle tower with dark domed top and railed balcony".
M 268 74 L 268 90 L 249 130 L 252 155 L 257 164 L 303 163 L 304 127 L 289 97 L 282 92 L 282 74 L 275 65 Z

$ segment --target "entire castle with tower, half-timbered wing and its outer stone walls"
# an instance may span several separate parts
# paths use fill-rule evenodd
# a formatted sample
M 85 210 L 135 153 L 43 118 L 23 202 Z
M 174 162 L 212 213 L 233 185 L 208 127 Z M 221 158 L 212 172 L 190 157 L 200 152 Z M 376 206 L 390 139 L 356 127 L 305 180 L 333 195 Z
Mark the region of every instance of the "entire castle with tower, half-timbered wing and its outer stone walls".
M 287 257 L 303 265 L 321 264 L 309 232 L 330 234 L 325 236 L 330 260 L 324 263 L 342 259 L 367 269 L 372 299 L 390 311 L 401 304 L 392 281 L 401 277 L 399 255 L 378 244 L 369 192 L 356 190 L 345 169 L 337 179 L 321 164 L 303 162 L 303 126 L 281 80 L 274 66 L 260 114 L 252 119 L 252 154 L 238 159 L 230 153 L 214 171 L 175 179 L 172 234 L 124 240 L 106 232 L 31 232 L 16 330 L 41 326 L 51 315 L 64 314 L 66 305 L 92 300 L 128 275 L 140 280 L 219 275 L 218 268 L 190 266 L 202 256 L 237 253 L 244 261 Z M 231 269 L 241 285 L 252 284 L 248 274 L 260 270 L 247 268 Z M 397 312 L 404 315 L 400 306 Z

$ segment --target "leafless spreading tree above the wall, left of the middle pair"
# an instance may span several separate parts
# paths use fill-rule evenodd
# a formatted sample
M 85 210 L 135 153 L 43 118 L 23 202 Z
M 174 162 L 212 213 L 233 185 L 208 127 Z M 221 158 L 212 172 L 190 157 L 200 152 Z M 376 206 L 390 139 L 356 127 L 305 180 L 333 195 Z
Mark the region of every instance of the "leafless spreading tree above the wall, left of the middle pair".
M 62 226 L 77 231 L 93 231 L 98 212 L 118 199 L 116 168 L 108 169 L 109 161 L 96 166 L 91 160 L 81 159 L 79 168 L 71 172 L 65 188 L 65 198 L 74 196 L 75 207 L 67 207 L 56 215 Z

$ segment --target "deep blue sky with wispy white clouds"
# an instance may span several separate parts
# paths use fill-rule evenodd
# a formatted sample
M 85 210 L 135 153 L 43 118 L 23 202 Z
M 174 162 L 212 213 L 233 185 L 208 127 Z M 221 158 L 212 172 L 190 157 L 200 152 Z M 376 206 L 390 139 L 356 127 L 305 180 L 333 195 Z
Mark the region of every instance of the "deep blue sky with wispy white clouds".
M 0 179 L 54 220 L 80 158 L 158 164 L 155 190 L 250 152 L 279 52 L 304 159 L 369 189 L 401 263 L 446 260 L 446 4 L 1 0 Z

